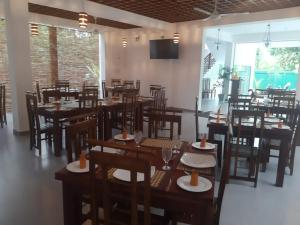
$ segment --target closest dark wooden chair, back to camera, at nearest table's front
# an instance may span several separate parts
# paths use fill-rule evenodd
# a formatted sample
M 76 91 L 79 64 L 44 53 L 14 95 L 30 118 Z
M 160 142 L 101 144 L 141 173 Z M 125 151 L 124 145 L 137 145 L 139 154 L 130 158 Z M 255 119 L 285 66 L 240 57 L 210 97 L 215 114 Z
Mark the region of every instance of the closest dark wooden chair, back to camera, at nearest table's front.
M 102 182 L 99 184 L 98 175 L 95 170 L 98 165 L 102 173 Z M 131 182 L 119 183 L 119 189 L 115 189 L 114 181 L 108 176 L 111 168 L 119 168 L 130 171 Z M 131 224 L 150 225 L 168 224 L 165 217 L 151 215 L 151 188 L 150 188 L 151 166 L 148 160 L 136 159 L 127 156 L 90 151 L 90 174 L 91 174 L 91 196 L 92 196 L 92 224 L 100 222 L 98 208 L 103 203 L 103 223 L 108 224 Z M 144 182 L 137 182 L 137 173 L 144 173 Z M 126 194 L 124 194 L 124 191 Z M 138 194 L 139 193 L 139 194 Z M 142 198 L 141 198 L 142 196 Z M 100 202 L 99 199 L 102 199 Z M 143 212 L 138 211 L 138 203 L 143 202 Z M 117 204 L 116 204 L 117 202 Z M 122 204 L 120 204 L 122 203 Z M 128 208 L 121 207 L 126 205 Z

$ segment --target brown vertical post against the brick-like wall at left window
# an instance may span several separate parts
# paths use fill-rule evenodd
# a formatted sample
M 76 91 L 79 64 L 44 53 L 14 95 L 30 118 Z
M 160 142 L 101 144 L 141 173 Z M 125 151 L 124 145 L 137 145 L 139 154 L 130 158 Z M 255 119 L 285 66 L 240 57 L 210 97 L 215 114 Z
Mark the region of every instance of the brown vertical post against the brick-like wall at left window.
M 58 80 L 57 29 L 49 27 L 51 83 Z

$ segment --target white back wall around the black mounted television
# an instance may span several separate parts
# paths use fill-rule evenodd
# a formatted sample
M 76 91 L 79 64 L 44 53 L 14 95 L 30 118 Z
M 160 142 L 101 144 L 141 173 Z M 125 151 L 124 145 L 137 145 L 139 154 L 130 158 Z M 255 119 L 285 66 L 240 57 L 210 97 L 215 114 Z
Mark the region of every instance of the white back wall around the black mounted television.
M 178 24 L 179 59 L 150 59 L 149 40 L 172 38 L 173 33 L 151 29 L 108 32 L 106 40 L 106 75 L 111 78 L 141 80 L 141 93 L 149 95 L 150 84 L 166 87 L 168 105 L 194 109 L 198 95 L 202 29 L 195 23 Z M 139 36 L 139 41 L 136 37 Z M 128 45 L 122 47 L 122 38 Z

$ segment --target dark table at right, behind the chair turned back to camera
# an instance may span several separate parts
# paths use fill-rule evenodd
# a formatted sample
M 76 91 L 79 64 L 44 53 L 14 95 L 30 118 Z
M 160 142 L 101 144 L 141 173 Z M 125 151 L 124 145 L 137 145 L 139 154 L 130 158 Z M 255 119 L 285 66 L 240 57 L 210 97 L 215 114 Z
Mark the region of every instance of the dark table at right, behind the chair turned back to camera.
M 227 124 L 208 123 L 207 126 L 209 128 L 208 131 L 209 140 L 213 140 L 215 134 L 224 135 L 226 140 L 226 134 L 228 130 Z M 257 134 L 259 133 L 260 133 L 260 129 L 257 129 Z M 286 162 L 289 157 L 289 149 L 287 146 L 291 143 L 292 135 L 293 135 L 292 130 L 272 129 L 270 125 L 265 125 L 263 138 L 280 140 L 279 160 L 278 160 L 276 183 L 275 183 L 275 185 L 278 187 L 283 186 Z

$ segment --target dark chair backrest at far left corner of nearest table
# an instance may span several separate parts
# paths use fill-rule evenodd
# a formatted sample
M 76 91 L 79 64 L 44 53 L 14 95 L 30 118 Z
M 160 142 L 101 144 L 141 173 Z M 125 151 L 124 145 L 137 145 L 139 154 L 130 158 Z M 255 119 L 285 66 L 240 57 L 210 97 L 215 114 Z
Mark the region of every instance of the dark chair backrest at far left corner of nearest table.
M 84 117 L 82 117 L 83 119 Z M 89 118 L 86 116 L 85 118 Z M 74 120 L 73 120 L 74 121 Z M 88 119 L 73 123 L 66 127 L 66 148 L 68 162 L 78 160 L 83 149 L 87 149 L 88 139 L 95 139 L 97 133 L 97 120 Z M 74 154 L 74 158 L 73 158 Z

